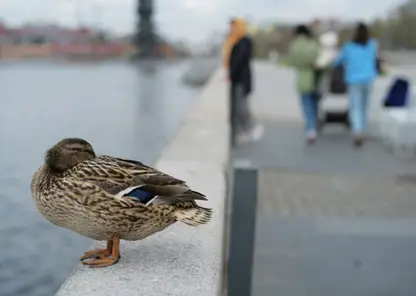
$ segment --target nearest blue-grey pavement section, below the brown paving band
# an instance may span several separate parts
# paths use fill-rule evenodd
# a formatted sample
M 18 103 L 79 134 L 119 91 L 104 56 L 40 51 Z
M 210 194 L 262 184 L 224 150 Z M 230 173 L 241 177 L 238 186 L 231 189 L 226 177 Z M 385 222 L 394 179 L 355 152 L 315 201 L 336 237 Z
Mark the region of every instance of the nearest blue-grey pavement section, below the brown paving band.
M 415 220 L 257 223 L 253 296 L 415 295 Z

